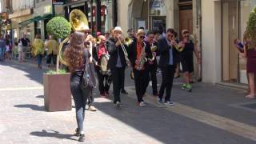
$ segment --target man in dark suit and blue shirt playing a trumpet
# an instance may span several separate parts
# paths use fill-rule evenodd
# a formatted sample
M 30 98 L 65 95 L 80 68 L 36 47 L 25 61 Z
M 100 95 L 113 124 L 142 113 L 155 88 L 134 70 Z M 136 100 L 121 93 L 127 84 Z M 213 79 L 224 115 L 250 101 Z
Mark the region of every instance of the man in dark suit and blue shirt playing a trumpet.
M 160 54 L 159 67 L 162 70 L 162 85 L 158 95 L 158 102 L 165 102 L 166 105 L 174 105 L 170 100 L 170 94 L 173 86 L 178 50 L 174 48 L 173 38 L 174 30 L 168 29 L 166 38 L 161 38 L 158 41 L 158 53 Z M 165 90 L 166 97 L 163 101 L 163 94 Z

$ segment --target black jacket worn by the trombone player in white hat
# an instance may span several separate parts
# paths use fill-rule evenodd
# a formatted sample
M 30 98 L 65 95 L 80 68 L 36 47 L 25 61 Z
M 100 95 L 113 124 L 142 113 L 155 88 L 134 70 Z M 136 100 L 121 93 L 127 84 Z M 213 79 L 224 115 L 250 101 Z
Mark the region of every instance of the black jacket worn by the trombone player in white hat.
M 118 47 L 115 46 L 116 42 L 117 41 L 114 38 L 110 38 L 108 41 L 106 41 L 106 49 L 108 50 L 108 52 L 110 54 L 110 60 L 108 62 L 108 66 L 110 67 L 110 69 L 113 69 L 116 67 L 116 64 L 118 62 L 118 51 L 119 51 L 122 67 L 127 66 L 125 54 L 123 53 L 122 46 L 118 46 Z M 124 46 L 127 50 L 127 46 L 126 45 L 124 45 Z

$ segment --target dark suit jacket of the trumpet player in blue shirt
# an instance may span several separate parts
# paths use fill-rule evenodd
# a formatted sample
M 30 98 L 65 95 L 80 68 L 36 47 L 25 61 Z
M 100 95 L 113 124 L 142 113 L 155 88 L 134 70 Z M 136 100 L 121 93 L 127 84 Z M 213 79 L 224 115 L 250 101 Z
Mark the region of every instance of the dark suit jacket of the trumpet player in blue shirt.
M 170 54 L 169 49 L 173 50 L 173 64 L 176 66 L 178 62 L 178 50 L 174 46 L 169 46 L 166 38 L 161 38 L 158 40 L 158 54 L 160 55 L 160 60 L 158 66 L 165 67 L 169 64 Z

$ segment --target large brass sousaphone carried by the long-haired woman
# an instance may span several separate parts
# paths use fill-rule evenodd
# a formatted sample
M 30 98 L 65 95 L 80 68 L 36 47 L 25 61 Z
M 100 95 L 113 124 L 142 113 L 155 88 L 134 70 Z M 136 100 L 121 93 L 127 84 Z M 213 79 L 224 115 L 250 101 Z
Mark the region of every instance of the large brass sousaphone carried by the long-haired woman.
M 78 10 L 78 9 L 74 9 L 70 12 L 70 25 L 72 26 L 72 29 L 74 31 L 90 30 L 89 26 L 88 26 L 88 20 L 86 18 L 86 15 L 81 10 Z M 70 41 L 70 38 L 66 38 L 58 46 L 59 61 L 62 62 L 62 64 L 66 65 L 66 66 L 69 66 L 70 64 L 65 61 L 65 59 L 63 57 L 65 50 L 62 50 L 62 49 L 64 47 L 64 44 L 69 41 Z

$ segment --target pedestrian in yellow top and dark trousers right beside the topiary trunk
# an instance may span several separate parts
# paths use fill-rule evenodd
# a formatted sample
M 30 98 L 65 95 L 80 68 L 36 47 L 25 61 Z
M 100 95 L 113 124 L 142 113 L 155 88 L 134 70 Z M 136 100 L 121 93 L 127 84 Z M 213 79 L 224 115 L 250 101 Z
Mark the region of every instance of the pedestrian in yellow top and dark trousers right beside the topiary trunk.
M 46 48 L 47 50 L 47 67 L 51 66 L 51 63 L 53 61 L 54 66 L 56 66 L 57 61 L 57 53 L 58 53 L 58 42 L 52 37 L 52 35 L 49 35 L 49 39 L 46 42 Z

